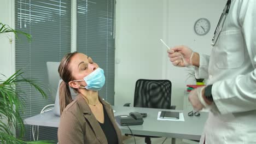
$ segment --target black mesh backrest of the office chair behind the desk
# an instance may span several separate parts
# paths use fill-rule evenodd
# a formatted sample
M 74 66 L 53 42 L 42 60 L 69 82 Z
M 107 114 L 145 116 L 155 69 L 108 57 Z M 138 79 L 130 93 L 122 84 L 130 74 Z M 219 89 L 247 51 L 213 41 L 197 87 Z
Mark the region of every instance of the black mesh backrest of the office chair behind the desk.
M 134 107 L 171 109 L 172 83 L 169 80 L 136 81 Z

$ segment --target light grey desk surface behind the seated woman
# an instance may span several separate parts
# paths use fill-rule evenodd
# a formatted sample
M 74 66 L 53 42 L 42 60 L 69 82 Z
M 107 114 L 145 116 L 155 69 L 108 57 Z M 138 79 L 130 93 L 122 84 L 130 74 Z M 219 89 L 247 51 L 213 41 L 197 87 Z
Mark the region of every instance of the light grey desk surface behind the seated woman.
M 148 116 L 144 118 L 143 125 L 129 126 L 133 134 L 136 135 L 149 135 L 149 136 L 162 136 L 162 137 L 175 137 L 179 139 L 200 140 L 203 126 L 205 125 L 208 117 L 207 112 L 201 112 L 200 117 L 188 116 L 188 111 L 179 110 L 166 110 L 166 111 L 179 111 L 183 112 L 184 122 L 177 121 L 158 121 L 158 112 L 163 109 L 149 109 L 142 107 L 124 107 L 113 106 L 117 115 L 129 115 L 130 112 L 144 112 Z M 40 125 L 46 127 L 58 127 L 60 117 L 54 115 L 53 111 L 48 111 L 24 120 L 25 124 Z M 129 128 L 126 126 L 119 126 L 123 134 L 131 134 Z

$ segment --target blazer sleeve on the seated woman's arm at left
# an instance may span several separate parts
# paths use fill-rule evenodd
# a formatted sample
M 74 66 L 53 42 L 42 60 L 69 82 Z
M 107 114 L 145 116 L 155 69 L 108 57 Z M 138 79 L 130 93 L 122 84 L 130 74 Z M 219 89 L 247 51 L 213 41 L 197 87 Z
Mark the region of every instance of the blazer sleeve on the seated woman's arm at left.
M 84 135 L 77 117 L 71 112 L 63 112 L 58 129 L 59 144 L 84 143 Z

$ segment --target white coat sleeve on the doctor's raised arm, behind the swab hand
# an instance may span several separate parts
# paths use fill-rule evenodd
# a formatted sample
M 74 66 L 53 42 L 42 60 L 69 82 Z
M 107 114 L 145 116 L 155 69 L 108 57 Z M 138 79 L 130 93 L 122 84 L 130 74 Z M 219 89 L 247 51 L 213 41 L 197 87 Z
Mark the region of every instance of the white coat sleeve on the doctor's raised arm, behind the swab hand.
M 208 65 L 210 56 L 200 54 L 199 68 L 195 67 L 196 79 L 208 79 Z

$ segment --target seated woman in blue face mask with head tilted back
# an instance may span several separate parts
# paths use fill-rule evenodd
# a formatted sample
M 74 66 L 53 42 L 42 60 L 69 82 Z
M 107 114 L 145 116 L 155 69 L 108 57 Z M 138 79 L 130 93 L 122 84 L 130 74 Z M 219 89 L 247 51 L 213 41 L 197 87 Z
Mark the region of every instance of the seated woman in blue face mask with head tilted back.
M 59 74 L 59 143 L 122 143 L 112 107 L 98 96 L 105 83 L 103 69 L 91 57 L 73 52 L 62 58 Z M 79 93 L 73 101 L 68 86 Z

